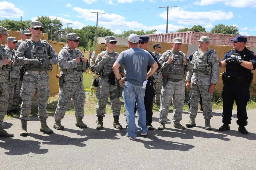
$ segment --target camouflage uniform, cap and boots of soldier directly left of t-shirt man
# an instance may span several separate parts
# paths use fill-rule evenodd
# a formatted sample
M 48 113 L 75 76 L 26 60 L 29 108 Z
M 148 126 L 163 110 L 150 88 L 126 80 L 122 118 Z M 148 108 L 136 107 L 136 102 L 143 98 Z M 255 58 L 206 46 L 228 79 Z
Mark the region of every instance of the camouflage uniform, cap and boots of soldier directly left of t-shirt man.
M 115 40 L 115 37 L 113 36 L 108 36 L 105 38 L 106 42 L 113 42 Z M 109 56 L 109 58 L 103 56 L 107 54 Z M 119 115 L 120 115 L 120 111 L 121 111 L 121 103 L 120 103 L 120 95 L 119 95 L 119 82 L 116 79 L 116 76 L 113 72 L 113 64 L 116 61 L 115 56 L 119 55 L 117 52 L 113 51 L 113 53 L 109 53 L 108 50 L 106 51 L 102 51 L 102 53 L 98 54 L 96 60 L 95 60 L 95 64 L 94 64 L 94 69 L 95 72 L 99 73 L 99 85 L 97 88 L 97 91 L 95 93 L 97 99 L 99 99 L 97 105 L 96 105 L 96 116 L 98 117 L 98 125 L 97 125 L 97 129 L 102 129 L 103 125 L 102 123 L 102 119 L 105 116 L 106 113 L 106 105 L 108 103 L 108 97 L 110 98 L 110 102 L 111 102 L 111 110 L 112 110 L 112 114 L 114 117 L 114 123 L 113 123 L 113 127 L 115 126 L 115 121 L 118 122 L 119 124 Z M 120 67 L 121 69 L 121 67 Z M 124 72 L 124 69 L 122 68 L 122 70 L 120 70 L 120 73 Z M 112 76 L 112 81 L 114 83 L 112 83 L 112 85 L 110 84 L 110 79 Z M 108 83 L 109 82 L 109 83 Z M 115 84 L 115 85 L 113 85 Z M 101 124 L 101 126 L 99 126 L 99 124 Z M 119 124 L 120 125 L 120 124 Z M 118 126 L 116 127 L 118 129 L 122 129 L 122 126 Z

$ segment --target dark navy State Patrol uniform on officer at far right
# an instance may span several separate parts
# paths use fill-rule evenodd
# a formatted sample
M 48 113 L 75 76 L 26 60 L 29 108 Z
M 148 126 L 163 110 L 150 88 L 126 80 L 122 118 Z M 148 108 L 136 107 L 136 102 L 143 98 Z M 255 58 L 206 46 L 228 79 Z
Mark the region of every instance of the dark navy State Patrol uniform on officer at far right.
M 253 70 L 256 68 L 256 57 L 253 51 L 246 47 L 242 51 L 235 49 L 228 51 L 221 61 L 229 57 L 236 57 L 244 61 L 252 62 Z M 234 101 L 237 105 L 237 124 L 240 126 L 247 125 L 246 105 L 250 99 L 250 84 L 253 78 L 251 70 L 246 69 L 238 64 L 227 63 L 226 73 L 223 75 L 223 112 L 222 122 L 231 123 L 232 108 Z

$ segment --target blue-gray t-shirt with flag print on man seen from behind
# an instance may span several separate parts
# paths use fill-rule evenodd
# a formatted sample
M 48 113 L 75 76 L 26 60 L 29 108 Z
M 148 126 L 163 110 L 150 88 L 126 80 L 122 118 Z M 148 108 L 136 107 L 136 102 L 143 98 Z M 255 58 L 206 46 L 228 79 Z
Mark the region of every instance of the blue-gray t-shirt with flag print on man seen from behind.
M 123 51 L 116 61 L 124 66 L 125 79 L 135 86 L 143 85 L 147 78 L 147 66 L 155 63 L 148 51 L 138 47 Z

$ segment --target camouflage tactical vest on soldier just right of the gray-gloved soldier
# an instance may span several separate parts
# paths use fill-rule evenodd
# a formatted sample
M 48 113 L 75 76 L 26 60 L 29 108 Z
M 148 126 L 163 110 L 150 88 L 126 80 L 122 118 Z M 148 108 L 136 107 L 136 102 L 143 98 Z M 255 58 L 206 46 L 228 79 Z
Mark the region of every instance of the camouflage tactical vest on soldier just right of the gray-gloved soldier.
M 71 48 L 65 46 L 63 47 L 66 50 L 68 50 L 68 52 L 71 54 L 72 58 L 75 59 L 76 57 L 82 57 L 81 54 L 79 53 L 79 51 L 74 52 Z M 69 59 L 68 59 L 69 60 Z M 86 63 L 85 62 L 79 62 L 77 63 L 77 67 L 76 68 L 72 68 L 72 69 L 62 69 L 63 71 L 67 72 L 67 73 L 72 73 L 74 71 L 82 71 L 84 72 L 86 70 Z

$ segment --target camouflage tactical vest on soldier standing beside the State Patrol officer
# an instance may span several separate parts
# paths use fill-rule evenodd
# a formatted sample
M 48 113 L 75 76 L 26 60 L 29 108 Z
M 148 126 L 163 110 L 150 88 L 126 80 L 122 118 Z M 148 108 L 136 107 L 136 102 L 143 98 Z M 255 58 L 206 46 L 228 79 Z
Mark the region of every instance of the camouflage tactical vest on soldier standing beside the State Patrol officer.
M 195 56 L 196 60 L 195 60 L 195 63 L 194 63 L 193 71 L 194 72 L 202 72 L 206 75 L 210 75 L 212 68 L 211 68 L 211 62 L 208 62 L 208 58 L 211 55 L 211 53 L 216 53 L 216 51 L 215 50 L 210 50 L 207 53 L 206 57 L 202 58 L 202 60 L 201 60 L 199 58 L 199 50 L 200 49 L 197 50 L 197 55 Z

